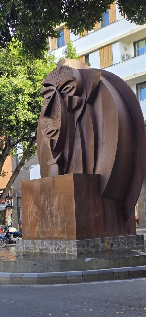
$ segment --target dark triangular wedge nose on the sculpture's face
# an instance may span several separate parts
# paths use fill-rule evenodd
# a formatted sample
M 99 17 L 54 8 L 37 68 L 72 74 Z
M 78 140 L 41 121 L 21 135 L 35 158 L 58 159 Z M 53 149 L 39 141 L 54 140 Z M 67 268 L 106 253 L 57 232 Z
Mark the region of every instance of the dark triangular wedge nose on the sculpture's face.
M 52 93 L 52 95 L 49 95 L 44 101 L 46 102 L 46 108 L 44 111 L 43 117 L 46 118 L 54 118 L 54 113 L 55 113 L 55 94 L 56 90 Z

